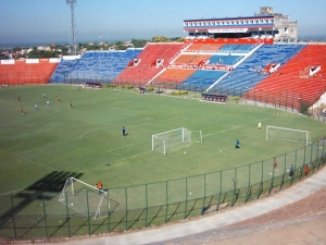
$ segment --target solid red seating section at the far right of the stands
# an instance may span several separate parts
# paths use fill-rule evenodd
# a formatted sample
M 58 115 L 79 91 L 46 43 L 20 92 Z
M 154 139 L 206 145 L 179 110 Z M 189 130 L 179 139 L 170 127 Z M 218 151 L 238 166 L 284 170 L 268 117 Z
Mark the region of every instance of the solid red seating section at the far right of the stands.
M 326 71 L 321 70 L 312 76 L 306 76 L 302 71 L 311 65 L 326 66 L 325 45 L 303 46 L 301 52 L 285 63 L 276 73 L 266 77 L 247 95 L 252 98 L 254 94 L 269 94 L 266 102 L 277 99 L 279 106 L 293 105 L 300 109 L 302 103 L 312 106 L 326 91 Z M 303 75 L 302 75 L 303 74 Z M 268 98 L 268 100 L 267 100 Z

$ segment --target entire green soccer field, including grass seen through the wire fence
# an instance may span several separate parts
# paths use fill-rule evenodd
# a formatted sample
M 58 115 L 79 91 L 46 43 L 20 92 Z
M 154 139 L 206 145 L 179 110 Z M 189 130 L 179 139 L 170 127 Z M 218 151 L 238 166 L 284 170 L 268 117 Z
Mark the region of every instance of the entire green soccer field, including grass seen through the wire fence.
M 290 185 L 291 163 L 299 181 L 300 168 L 319 168 L 326 150 L 266 140 L 267 125 L 309 131 L 312 142 L 325 134 L 322 122 L 275 108 L 70 85 L 4 87 L 0 102 L 0 237 L 10 240 L 121 232 L 198 217 Z M 153 134 L 180 127 L 201 131 L 203 143 L 166 156 L 152 150 Z M 99 181 L 102 194 L 93 187 Z

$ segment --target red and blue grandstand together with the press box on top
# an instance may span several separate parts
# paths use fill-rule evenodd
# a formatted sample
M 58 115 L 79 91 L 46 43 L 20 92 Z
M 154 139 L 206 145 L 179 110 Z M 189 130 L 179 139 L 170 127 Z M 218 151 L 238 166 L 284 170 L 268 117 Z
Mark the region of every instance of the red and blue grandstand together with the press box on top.
M 82 84 L 183 89 L 302 109 L 326 91 L 325 44 L 298 42 L 298 23 L 262 7 L 252 16 L 185 20 L 184 42 L 2 60 L 0 84 Z M 324 96 L 323 96 L 324 95 Z

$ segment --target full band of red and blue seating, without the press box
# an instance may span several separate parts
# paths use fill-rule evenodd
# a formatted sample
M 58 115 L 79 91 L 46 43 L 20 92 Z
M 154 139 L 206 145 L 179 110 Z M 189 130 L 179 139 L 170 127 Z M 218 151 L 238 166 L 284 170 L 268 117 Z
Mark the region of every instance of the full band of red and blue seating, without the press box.
M 325 45 L 265 44 L 253 52 L 258 45 L 251 39 L 193 39 L 126 51 L 88 51 L 80 59 L 62 59 L 59 65 L 51 59 L 5 60 L 0 64 L 0 84 L 114 81 L 142 87 L 151 83 L 298 109 L 325 93 Z M 321 71 L 312 74 L 312 68 Z

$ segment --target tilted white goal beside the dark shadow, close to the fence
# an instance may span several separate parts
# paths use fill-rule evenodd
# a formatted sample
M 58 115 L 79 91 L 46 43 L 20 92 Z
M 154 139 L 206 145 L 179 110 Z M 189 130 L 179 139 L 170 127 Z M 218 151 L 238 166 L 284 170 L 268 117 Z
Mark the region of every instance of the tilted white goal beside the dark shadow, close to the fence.
M 92 217 L 95 220 L 108 217 L 110 211 L 108 192 L 75 177 L 66 179 L 59 201 L 78 215 Z

